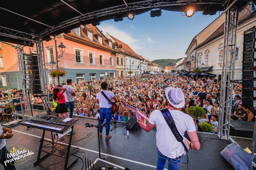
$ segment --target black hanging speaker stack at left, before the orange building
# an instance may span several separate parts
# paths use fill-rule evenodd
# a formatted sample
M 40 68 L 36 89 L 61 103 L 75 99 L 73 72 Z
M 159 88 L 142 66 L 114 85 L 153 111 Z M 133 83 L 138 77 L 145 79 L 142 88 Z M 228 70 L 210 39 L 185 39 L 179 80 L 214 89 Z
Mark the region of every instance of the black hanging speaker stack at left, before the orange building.
M 25 70 L 25 88 L 27 92 L 38 94 L 41 92 L 39 66 L 37 54 L 23 54 Z

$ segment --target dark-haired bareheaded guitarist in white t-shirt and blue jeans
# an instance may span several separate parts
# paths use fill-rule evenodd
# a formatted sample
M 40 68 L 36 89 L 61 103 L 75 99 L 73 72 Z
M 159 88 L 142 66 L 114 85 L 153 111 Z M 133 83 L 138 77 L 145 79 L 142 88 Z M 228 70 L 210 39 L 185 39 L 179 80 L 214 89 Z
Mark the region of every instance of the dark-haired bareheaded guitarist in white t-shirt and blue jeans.
M 108 99 L 113 99 L 117 102 L 116 96 L 114 95 L 113 92 L 108 91 L 108 83 L 107 82 L 102 82 L 101 83 L 101 89 L 102 92 L 108 97 Z M 112 115 L 112 104 L 108 102 L 108 100 L 104 97 L 102 92 L 97 93 L 96 99 L 97 103 L 100 106 L 100 123 L 101 125 L 104 122 L 104 119 L 106 118 L 106 137 L 105 140 L 108 140 L 109 138 L 112 137 L 111 134 L 109 134 L 110 130 L 110 119 Z M 100 127 L 100 137 L 102 137 L 102 127 Z

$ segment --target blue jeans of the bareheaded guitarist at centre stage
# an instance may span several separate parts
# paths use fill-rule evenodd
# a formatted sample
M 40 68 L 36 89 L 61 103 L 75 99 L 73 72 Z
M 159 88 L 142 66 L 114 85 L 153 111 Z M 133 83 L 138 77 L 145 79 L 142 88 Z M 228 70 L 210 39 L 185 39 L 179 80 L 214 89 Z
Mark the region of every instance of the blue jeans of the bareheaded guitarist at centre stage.
M 112 108 L 100 108 L 100 123 L 101 125 L 104 122 L 104 119 L 106 118 L 106 136 L 109 135 L 109 130 L 110 130 L 110 119 L 112 115 Z M 102 127 L 100 127 L 100 134 L 102 134 Z

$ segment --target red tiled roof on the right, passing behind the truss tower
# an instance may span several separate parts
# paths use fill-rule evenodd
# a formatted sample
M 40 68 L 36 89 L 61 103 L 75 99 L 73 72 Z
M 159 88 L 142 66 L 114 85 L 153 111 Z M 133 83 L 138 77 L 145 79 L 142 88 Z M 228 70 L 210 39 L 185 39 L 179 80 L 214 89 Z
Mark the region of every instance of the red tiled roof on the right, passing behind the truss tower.
M 244 8 L 241 12 L 239 12 L 238 23 L 240 23 L 241 21 L 243 21 L 244 19 L 248 18 L 251 15 L 251 5 L 248 5 L 246 8 Z M 225 23 L 223 23 L 218 29 L 216 29 L 208 38 L 206 38 L 206 40 L 198 44 L 197 48 L 208 43 L 210 40 L 216 38 L 217 36 L 222 35 L 224 33 L 224 26 L 225 26 Z

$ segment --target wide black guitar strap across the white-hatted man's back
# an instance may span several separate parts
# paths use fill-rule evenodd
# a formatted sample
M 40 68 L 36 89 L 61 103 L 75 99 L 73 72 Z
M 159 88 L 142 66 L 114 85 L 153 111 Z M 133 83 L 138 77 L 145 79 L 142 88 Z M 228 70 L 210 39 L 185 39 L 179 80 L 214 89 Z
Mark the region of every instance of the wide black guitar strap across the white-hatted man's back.
M 178 131 L 176 124 L 172 118 L 171 113 L 169 112 L 169 109 L 164 108 L 164 109 L 159 109 L 162 112 L 162 115 L 165 118 L 166 123 L 168 124 L 169 128 L 171 129 L 173 135 L 175 136 L 176 140 L 178 142 L 181 142 L 181 144 L 183 145 L 183 147 L 185 148 L 186 152 L 188 152 L 188 149 L 186 147 L 186 145 L 183 142 L 183 137 L 181 136 L 180 132 Z

